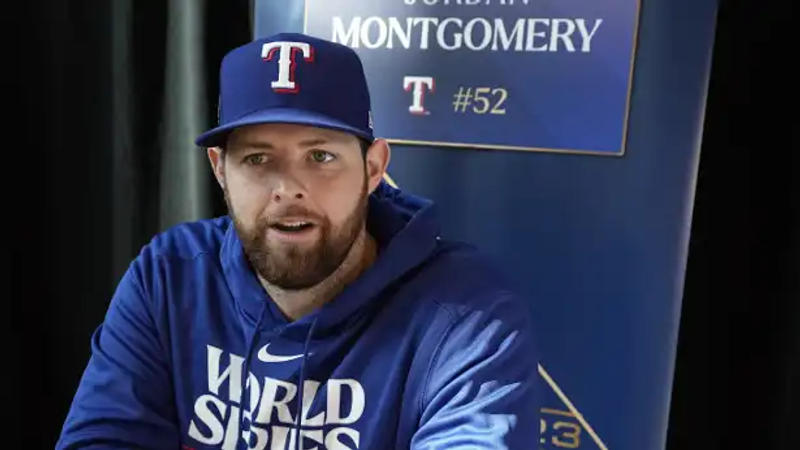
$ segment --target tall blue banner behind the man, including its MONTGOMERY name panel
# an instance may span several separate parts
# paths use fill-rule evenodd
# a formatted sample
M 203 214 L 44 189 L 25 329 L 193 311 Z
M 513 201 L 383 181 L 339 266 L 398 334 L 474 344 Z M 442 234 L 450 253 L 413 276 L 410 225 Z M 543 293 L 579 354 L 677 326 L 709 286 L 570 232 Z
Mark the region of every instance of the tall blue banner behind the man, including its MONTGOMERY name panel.
M 531 449 L 666 441 L 717 3 L 645 6 L 256 1 L 256 37 L 359 53 L 391 178 L 530 299 L 549 389 Z

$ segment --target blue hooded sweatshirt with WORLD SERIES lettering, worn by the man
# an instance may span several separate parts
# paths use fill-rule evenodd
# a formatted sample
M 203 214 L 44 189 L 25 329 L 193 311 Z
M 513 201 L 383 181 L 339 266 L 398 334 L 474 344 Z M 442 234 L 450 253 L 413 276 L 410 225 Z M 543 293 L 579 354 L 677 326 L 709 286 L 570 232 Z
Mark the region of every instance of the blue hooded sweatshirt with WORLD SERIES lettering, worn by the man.
M 428 200 L 382 183 L 367 226 L 375 263 L 294 322 L 228 217 L 157 236 L 92 336 L 56 448 L 536 448 L 524 303 L 440 239 Z

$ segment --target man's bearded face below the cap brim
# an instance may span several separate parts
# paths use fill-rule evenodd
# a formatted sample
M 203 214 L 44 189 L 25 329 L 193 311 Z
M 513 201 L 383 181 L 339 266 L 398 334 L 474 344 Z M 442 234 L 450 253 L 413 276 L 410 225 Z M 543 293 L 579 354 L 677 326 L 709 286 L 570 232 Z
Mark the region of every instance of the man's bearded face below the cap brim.
M 265 280 L 303 289 L 339 267 L 364 229 L 374 189 L 355 136 L 253 125 L 230 134 L 221 163 L 212 151 L 239 238 Z

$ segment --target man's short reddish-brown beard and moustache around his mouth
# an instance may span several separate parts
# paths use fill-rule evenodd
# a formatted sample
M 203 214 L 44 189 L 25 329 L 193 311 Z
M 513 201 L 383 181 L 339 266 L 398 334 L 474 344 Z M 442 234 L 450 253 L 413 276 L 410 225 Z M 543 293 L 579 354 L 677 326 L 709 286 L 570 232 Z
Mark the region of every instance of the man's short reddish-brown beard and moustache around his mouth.
M 225 202 L 233 219 L 239 240 L 251 266 L 267 282 L 285 290 L 300 290 L 315 286 L 328 278 L 347 257 L 367 215 L 367 179 L 364 177 L 358 204 L 345 222 L 334 229 L 327 217 L 313 214 L 300 205 L 291 205 L 276 214 L 256 220 L 247 227 L 235 214 L 227 189 Z M 285 216 L 312 218 L 318 228 L 319 238 L 312 245 L 270 242 L 267 231 L 270 223 Z

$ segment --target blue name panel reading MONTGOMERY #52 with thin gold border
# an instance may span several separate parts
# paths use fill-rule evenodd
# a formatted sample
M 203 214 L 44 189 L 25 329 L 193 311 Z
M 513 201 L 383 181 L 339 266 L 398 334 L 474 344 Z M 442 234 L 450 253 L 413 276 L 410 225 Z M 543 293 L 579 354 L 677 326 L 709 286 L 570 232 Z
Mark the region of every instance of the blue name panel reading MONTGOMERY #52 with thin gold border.
M 304 28 L 359 51 L 390 142 L 621 155 L 638 3 L 308 0 Z

